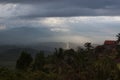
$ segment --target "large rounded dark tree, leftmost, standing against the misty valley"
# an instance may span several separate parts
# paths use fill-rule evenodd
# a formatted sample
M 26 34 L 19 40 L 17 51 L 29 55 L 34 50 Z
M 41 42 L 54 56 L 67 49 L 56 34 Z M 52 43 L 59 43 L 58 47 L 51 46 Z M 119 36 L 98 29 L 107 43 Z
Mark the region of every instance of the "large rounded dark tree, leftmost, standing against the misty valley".
M 23 51 L 21 52 L 21 55 L 16 62 L 16 69 L 26 70 L 30 66 L 32 61 L 32 56 L 29 53 Z

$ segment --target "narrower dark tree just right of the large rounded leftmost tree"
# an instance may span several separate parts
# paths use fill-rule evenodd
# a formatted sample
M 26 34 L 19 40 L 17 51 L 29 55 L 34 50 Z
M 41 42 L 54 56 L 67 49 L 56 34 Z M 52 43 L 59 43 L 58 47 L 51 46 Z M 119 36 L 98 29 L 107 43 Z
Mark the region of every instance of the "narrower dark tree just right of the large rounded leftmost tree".
M 35 61 L 33 65 L 34 70 L 42 70 L 45 64 L 45 55 L 43 51 L 40 51 L 35 56 Z

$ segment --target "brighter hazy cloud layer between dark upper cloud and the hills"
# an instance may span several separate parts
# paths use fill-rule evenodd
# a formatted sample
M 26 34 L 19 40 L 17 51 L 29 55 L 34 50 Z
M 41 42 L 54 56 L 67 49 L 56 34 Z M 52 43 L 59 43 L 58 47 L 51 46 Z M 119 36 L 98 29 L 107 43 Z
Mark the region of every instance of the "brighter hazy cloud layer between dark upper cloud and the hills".
M 1 23 L 0 43 L 94 42 L 99 44 L 106 39 L 116 39 L 115 35 L 120 30 L 119 24 L 119 16 L 13 19 Z

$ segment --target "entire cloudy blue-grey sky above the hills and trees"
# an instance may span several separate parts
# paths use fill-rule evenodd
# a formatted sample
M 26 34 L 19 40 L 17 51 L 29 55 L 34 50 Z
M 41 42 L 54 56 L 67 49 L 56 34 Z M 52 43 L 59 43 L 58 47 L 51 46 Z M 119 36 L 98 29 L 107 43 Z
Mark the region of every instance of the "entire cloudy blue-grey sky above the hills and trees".
M 0 0 L 0 44 L 115 40 L 120 0 Z

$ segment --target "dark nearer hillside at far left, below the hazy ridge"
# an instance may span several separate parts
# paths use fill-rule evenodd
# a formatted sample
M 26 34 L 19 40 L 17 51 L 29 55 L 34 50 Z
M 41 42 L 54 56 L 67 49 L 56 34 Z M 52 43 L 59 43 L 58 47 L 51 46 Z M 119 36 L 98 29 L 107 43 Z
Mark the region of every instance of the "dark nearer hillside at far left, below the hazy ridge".
M 12 67 L 15 66 L 16 60 L 20 56 L 20 52 L 26 50 L 34 56 L 38 50 L 32 48 L 21 48 L 20 46 L 0 46 L 0 65 Z

